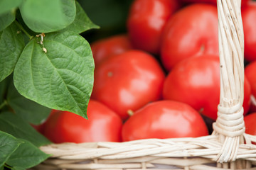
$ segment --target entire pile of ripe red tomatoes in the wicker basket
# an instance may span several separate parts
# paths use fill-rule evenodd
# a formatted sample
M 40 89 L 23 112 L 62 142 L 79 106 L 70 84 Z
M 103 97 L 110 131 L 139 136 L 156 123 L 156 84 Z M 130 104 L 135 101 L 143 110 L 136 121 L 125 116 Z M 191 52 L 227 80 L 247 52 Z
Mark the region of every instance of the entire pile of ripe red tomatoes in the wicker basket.
M 256 1 L 242 0 L 244 115 L 256 135 Z M 220 100 L 215 0 L 134 0 L 127 33 L 91 43 L 88 120 L 53 110 L 41 132 L 60 142 L 122 142 L 210 134 Z

